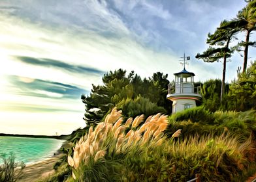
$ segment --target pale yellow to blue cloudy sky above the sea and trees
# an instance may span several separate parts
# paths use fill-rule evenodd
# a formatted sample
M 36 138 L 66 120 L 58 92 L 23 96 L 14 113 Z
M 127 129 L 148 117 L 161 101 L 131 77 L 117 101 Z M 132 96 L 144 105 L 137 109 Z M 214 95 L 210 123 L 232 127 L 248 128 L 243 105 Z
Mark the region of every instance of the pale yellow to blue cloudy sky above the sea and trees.
M 244 6 L 242 0 L 1 0 L 0 133 L 61 135 L 84 127 L 80 96 L 110 70 L 163 72 L 172 81 L 185 53 L 195 81 L 220 79 L 221 62 L 195 55 L 208 47 L 208 32 Z M 249 61 L 255 57 L 250 47 Z M 229 61 L 231 82 L 242 58 L 234 53 Z

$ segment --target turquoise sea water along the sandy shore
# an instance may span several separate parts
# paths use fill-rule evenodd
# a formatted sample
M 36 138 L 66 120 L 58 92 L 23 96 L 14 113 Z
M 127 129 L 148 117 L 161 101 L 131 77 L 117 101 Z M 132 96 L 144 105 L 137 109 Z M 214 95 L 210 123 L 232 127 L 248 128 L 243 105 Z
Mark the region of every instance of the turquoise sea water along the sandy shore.
M 28 138 L 14 136 L 0 136 L 0 154 L 14 153 L 15 162 L 25 164 L 42 161 L 54 155 L 61 147 L 63 140 L 52 138 Z M 0 159 L 0 163 L 3 162 Z

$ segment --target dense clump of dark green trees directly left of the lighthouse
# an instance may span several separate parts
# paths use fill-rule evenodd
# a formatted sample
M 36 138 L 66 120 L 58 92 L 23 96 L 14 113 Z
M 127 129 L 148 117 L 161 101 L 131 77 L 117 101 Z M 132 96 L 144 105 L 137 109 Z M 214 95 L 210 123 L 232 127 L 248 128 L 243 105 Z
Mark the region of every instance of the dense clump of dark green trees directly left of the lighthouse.
M 171 105 L 166 99 L 168 83 L 167 75 L 160 72 L 142 80 L 134 72 L 126 76 L 125 70 L 110 71 L 103 76 L 103 85 L 93 85 L 90 96 L 82 96 L 86 105 L 84 120 L 88 125 L 95 125 L 117 105 L 125 111 L 130 109 L 125 112 L 127 117 L 135 116 L 138 111 L 148 113 L 152 109 L 168 112 L 171 110 Z M 149 107 L 145 107 L 146 101 L 149 101 Z M 140 110 L 135 109 L 135 105 Z

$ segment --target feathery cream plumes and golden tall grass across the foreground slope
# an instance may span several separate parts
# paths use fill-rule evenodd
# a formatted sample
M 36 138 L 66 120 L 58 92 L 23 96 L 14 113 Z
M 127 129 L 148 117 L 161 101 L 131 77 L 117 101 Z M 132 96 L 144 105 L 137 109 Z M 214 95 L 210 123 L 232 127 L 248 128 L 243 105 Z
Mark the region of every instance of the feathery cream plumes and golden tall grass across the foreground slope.
M 67 181 L 186 181 L 197 173 L 202 181 L 244 180 L 251 137 L 242 140 L 219 126 L 223 131 L 217 136 L 183 136 L 183 130 L 176 130 L 167 138 L 167 125 L 161 114 L 124 122 L 121 111 L 113 109 L 74 146 Z

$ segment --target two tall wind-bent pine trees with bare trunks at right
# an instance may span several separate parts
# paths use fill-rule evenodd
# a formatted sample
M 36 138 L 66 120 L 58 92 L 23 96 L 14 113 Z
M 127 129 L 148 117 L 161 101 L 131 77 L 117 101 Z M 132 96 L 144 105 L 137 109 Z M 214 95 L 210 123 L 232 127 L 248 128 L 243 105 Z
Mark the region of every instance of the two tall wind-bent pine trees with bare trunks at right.
M 217 27 L 214 34 L 208 34 L 207 44 L 214 45 L 210 46 L 202 54 L 197 54 L 197 59 L 202 59 L 204 62 L 216 62 L 219 59 L 223 59 L 223 74 L 221 81 L 221 94 L 220 103 L 223 105 L 225 102 L 225 74 L 226 74 L 226 64 L 227 58 L 231 57 L 234 50 L 242 51 L 241 47 L 244 47 L 244 68 L 243 73 L 246 72 L 247 60 L 248 60 L 248 47 L 256 46 L 256 42 L 249 42 L 249 37 L 252 31 L 256 30 L 256 0 L 248 1 L 248 5 L 240 10 L 235 19 L 230 21 L 221 21 L 219 27 Z M 234 34 L 238 32 L 246 31 L 246 41 L 238 42 L 236 46 L 229 47 L 232 38 L 238 40 L 234 37 Z M 239 41 L 239 40 L 238 40 Z M 216 47 L 217 46 L 217 47 Z M 225 99 L 224 99 L 225 98 Z M 214 98 L 216 101 L 217 98 Z M 242 103 L 241 103 L 242 104 Z M 207 104 L 210 106 L 209 104 Z M 224 103 L 227 105 L 227 103 Z M 243 106 L 242 106 L 243 107 Z

